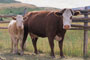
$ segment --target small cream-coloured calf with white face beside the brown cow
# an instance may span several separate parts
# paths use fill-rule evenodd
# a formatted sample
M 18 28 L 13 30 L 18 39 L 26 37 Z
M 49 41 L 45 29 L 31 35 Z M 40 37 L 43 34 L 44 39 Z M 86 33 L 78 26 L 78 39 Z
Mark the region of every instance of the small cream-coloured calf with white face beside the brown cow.
M 11 38 L 11 52 L 13 54 L 18 54 L 18 42 L 23 40 L 24 35 L 24 25 L 23 25 L 23 16 L 17 15 L 16 17 L 12 17 L 13 20 L 10 21 L 8 25 L 8 31 Z

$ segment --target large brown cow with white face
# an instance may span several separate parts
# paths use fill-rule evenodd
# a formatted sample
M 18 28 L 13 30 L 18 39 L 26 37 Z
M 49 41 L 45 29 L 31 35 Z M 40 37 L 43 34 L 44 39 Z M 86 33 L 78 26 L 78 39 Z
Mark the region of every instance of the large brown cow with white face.
M 28 12 L 24 17 L 24 38 L 22 42 L 22 52 L 28 33 L 31 36 L 34 46 L 34 52 L 37 54 L 38 37 L 48 37 L 51 48 L 51 57 L 54 55 L 54 39 L 58 40 L 60 56 L 63 55 L 63 40 L 67 29 L 71 28 L 72 16 L 78 15 L 79 12 L 72 9 L 62 9 L 61 11 L 36 11 Z

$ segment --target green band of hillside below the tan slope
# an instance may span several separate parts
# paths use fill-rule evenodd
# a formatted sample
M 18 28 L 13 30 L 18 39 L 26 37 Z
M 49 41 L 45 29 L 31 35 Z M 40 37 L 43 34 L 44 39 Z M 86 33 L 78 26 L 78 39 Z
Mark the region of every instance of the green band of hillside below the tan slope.
M 10 7 L 10 8 L 4 8 L 4 9 L 1 9 L 0 10 L 0 14 L 4 14 L 4 15 L 23 14 L 25 8 L 26 7 L 19 7 L 19 8 Z M 44 10 L 44 8 L 27 8 L 27 12 L 28 11 L 38 11 L 38 10 Z

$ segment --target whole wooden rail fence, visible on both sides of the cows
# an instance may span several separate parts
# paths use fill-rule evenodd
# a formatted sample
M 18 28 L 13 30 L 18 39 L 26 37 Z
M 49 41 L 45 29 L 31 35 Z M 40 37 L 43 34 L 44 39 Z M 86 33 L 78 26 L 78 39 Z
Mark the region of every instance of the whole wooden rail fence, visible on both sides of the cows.
M 87 7 L 85 7 L 85 10 L 77 10 L 81 12 L 81 15 L 84 15 L 84 17 L 77 17 L 72 18 L 72 22 L 76 23 L 84 23 L 84 25 L 80 24 L 72 24 L 72 28 L 70 30 L 84 30 L 84 40 L 83 40 L 83 56 L 85 57 L 87 55 L 87 44 L 88 44 L 88 30 L 90 30 L 90 26 L 88 23 L 90 22 L 90 10 L 87 10 Z M 25 13 L 24 13 L 25 14 Z M 14 15 L 13 15 L 14 16 Z M 12 16 L 0 16 L 0 17 L 12 17 Z M 10 21 L 0 21 L 1 23 L 9 23 Z M 7 29 L 7 27 L 0 27 L 0 29 Z

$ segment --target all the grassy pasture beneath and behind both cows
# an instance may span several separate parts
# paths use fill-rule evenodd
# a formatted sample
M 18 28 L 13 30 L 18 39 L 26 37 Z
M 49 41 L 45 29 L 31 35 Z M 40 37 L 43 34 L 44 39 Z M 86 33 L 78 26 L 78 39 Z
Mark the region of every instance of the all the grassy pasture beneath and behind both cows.
M 0 26 L 8 26 L 8 24 L 0 24 Z M 64 39 L 64 55 L 66 57 L 82 57 L 83 56 L 83 30 L 68 30 Z M 33 54 L 33 46 L 30 37 L 28 36 L 26 42 L 26 51 L 24 56 L 13 55 L 10 53 L 11 40 L 7 29 L 0 29 L 0 56 L 6 60 L 52 60 L 49 56 L 50 47 L 47 38 L 38 39 L 38 50 L 41 52 L 38 55 Z M 56 60 L 59 60 L 58 42 L 55 41 L 55 55 Z M 90 57 L 90 32 L 88 31 L 88 52 Z M 80 58 L 81 59 L 81 58 Z

